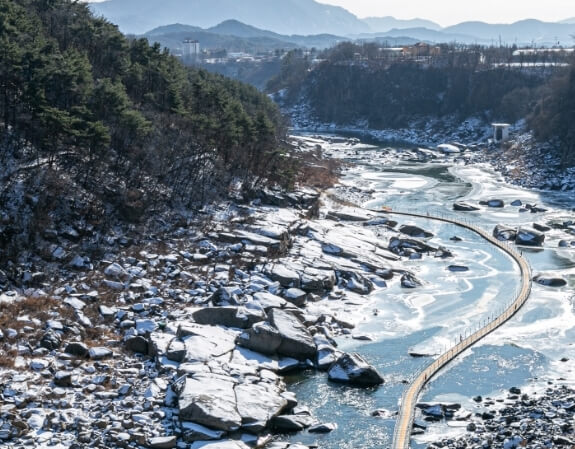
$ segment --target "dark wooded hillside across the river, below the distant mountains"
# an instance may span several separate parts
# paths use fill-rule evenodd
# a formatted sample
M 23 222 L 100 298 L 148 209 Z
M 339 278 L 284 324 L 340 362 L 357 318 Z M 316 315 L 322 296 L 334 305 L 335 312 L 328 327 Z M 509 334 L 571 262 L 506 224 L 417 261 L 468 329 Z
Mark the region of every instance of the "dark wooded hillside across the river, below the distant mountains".
M 281 92 L 286 106 L 307 104 L 318 122 L 372 129 L 447 116 L 527 118 L 536 136 L 556 138 L 564 164 L 573 164 L 573 64 L 553 67 L 550 60 L 534 68 L 531 61 L 514 62 L 513 50 L 441 45 L 435 54 L 398 56 L 376 44 L 343 43 L 314 61 L 290 52 L 267 90 Z

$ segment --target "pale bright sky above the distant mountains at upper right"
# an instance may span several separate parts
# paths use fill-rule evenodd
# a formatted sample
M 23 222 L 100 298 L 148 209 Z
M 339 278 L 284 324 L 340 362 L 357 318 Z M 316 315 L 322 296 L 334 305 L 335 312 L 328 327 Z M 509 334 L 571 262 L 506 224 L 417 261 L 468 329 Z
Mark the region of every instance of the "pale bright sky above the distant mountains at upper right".
M 468 20 L 512 23 L 521 19 L 549 22 L 575 17 L 574 0 L 318 0 L 342 6 L 356 16 L 394 16 L 433 20 L 442 26 Z

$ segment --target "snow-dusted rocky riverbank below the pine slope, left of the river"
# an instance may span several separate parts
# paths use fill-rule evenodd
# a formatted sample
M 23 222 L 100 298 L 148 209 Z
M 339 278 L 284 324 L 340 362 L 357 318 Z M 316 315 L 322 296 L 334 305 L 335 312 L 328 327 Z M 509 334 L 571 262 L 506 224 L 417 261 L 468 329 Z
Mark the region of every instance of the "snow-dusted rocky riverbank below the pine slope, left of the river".
M 275 435 L 333 430 L 282 376 L 385 381 L 333 337 L 363 338 L 368 295 L 417 281 L 395 226 L 304 189 L 223 205 L 201 229 L 117 235 L 101 257 L 54 230 L 22 288 L 1 280 L 3 447 L 285 449 L 302 446 Z

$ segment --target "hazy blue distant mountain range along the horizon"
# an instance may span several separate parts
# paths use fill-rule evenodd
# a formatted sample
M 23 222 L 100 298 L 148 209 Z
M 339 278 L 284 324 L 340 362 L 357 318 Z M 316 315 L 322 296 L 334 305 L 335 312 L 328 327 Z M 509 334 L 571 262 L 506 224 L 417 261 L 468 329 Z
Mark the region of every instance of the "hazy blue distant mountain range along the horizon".
M 218 40 L 227 42 L 230 36 L 243 39 L 237 42 L 237 47 L 250 48 L 325 47 L 350 38 L 538 46 L 575 44 L 575 17 L 558 23 L 529 19 L 512 24 L 463 22 L 441 28 L 423 19 L 398 20 L 388 16 L 361 20 L 343 8 L 315 0 L 108 0 L 91 3 L 91 8 L 118 24 L 124 33 L 153 30 L 147 35 L 163 36 L 164 41 L 170 39 L 167 35 L 180 39 L 186 34 L 202 41 L 204 48 Z M 185 25 L 169 25 L 164 29 L 174 23 Z M 227 44 L 220 46 L 227 48 Z

